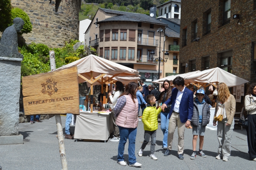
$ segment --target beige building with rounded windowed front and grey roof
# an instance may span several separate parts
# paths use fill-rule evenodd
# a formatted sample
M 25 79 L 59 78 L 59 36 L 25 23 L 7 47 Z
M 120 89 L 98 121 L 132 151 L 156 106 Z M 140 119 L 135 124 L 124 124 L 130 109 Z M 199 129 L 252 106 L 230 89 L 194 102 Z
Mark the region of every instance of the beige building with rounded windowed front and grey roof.
M 99 8 L 85 32 L 85 44 L 98 50 L 100 57 L 140 72 L 145 84 L 158 78 L 160 32 L 168 25 L 145 14 Z M 161 32 L 163 55 L 164 32 Z M 154 51 L 155 55 L 150 55 Z M 163 63 L 160 65 L 160 78 Z

